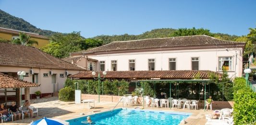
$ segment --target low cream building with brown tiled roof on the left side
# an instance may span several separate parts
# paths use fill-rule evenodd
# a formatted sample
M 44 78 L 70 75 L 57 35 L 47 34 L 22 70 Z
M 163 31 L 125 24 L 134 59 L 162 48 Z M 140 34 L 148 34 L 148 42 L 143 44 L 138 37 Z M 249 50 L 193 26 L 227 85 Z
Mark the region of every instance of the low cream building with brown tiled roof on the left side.
M 41 96 L 58 92 L 68 76 L 85 71 L 85 68 L 52 57 L 35 47 L 0 43 L 0 72 L 19 78 L 18 71 L 25 71 L 25 81 L 40 84 L 27 90 L 34 98 L 35 91 L 41 91 Z M 22 93 L 25 91 L 23 88 Z

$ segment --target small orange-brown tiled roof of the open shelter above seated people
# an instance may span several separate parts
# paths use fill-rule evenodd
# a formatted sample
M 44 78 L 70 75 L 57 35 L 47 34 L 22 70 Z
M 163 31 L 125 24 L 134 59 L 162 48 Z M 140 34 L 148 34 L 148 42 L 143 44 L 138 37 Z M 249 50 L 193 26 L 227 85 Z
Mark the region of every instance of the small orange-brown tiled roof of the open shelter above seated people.
M 0 88 L 27 88 L 37 86 L 40 86 L 40 84 L 20 80 L 18 78 L 0 73 Z

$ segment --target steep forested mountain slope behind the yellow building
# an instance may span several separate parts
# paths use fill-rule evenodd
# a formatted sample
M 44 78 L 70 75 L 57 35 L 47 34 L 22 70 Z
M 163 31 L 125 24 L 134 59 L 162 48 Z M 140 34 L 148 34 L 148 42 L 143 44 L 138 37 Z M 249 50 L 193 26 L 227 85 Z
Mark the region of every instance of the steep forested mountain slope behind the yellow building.
M 12 16 L 9 13 L 2 10 L 0 10 L 0 27 L 37 33 L 44 36 L 50 36 L 56 33 L 50 30 L 39 29 L 36 26 L 26 22 L 22 18 Z

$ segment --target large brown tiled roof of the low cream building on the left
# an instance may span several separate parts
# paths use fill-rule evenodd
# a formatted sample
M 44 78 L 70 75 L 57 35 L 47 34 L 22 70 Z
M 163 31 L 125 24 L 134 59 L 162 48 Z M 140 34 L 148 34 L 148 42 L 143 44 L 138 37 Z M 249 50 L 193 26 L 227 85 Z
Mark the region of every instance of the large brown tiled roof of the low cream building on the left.
M 35 47 L 0 43 L 0 65 L 84 70 Z

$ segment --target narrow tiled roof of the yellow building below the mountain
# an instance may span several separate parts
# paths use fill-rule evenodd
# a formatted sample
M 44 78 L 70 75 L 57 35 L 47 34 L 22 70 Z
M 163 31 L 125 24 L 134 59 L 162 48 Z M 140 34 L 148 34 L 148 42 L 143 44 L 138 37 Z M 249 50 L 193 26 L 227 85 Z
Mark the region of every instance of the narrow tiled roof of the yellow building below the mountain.
M 42 35 L 39 35 L 39 34 L 36 34 L 36 33 L 13 30 L 13 29 L 8 29 L 8 28 L 3 28 L 3 27 L 0 27 L 0 32 L 8 33 L 8 34 L 15 34 L 15 35 L 19 35 L 20 32 L 23 32 L 23 33 L 26 33 L 26 34 L 30 35 L 31 37 L 40 38 L 40 39 L 48 39 L 49 40 L 49 38 L 47 38 L 45 36 L 42 36 Z

